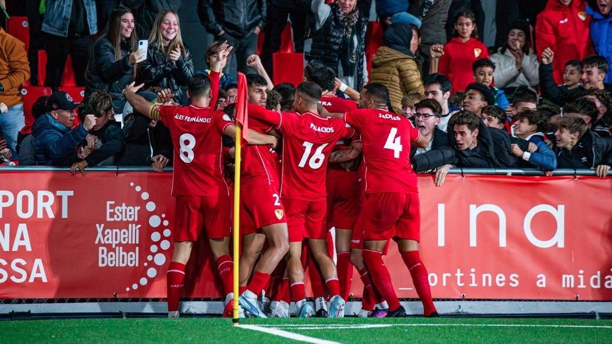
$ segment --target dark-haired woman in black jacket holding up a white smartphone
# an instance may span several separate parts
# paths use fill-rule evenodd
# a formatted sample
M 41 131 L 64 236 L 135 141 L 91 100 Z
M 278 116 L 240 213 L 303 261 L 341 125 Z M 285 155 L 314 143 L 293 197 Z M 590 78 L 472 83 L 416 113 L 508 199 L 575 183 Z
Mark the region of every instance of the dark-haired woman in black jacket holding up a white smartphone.
M 115 113 L 123 113 L 125 86 L 135 78 L 138 62 L 143 62 L 146 50 L 136 50 L 134 16 L 127 7 L 117 7 L 110 13 L 108 24 L 94 43 L 86 73 L 85 97 L 101 89 L 113 97 Z

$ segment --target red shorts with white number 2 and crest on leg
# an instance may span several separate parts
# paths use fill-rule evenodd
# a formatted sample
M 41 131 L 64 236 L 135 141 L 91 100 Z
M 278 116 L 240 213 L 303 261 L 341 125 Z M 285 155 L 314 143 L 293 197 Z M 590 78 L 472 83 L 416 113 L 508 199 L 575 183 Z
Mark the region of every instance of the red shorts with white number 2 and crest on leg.
M 241 186 L 240 234 L 261 233 L 261 227 L 286 223 L 285 209 L 273 185 Z

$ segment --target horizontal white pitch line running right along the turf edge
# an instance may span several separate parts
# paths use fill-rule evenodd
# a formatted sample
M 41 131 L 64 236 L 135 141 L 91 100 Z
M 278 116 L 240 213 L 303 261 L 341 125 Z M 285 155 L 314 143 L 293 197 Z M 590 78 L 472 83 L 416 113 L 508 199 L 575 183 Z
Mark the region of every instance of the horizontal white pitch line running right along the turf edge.
M 259 325 L 261 327 L 274 327 L 288 329 L 359 329 L 359 328 L 370 328 L 370 327 L 392 327 L 392 326 L 471 326 L 471 327 L 557 327 L 557 328 L 583 328 L 583 329 L 612 329 L 612 326 L 596 326 L 596 325 L 544 325 L 544 324 L 331 324 L 331 325 L 316 325 L 316 324 L 279 324 L 279 325 Z

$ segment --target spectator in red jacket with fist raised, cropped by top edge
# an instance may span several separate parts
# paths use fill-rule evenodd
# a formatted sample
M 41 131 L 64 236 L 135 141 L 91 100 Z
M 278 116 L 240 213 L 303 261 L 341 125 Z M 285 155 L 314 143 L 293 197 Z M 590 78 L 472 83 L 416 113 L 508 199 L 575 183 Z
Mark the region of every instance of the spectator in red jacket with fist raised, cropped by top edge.
M 582 61 L 594 54 L 589 37 L 591 18 L 584 12 L 586 2 L 581 0 L 548 0 L 535 21 L 535 47 L 538 53 L 551 48 L 554 53 L 553 78 L 563 83 L 565 62 Z

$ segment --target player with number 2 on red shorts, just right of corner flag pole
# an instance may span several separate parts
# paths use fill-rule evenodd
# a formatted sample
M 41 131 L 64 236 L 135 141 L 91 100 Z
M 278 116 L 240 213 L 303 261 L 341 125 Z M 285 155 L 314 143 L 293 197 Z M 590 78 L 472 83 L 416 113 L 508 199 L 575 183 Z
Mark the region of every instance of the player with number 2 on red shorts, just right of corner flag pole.
M 267 81 L 258 74 L 247 75 L 248 102 L 265 105 Z M 250 118 L 248 127 L 259 133 L 273 128 L 256 118 Z M 245 146 L 242 150 L 241 171 L 241 234 L 239 302 L 253 316 L 266 318 L 257 300 L 266 287 L 270 275 L 289 250 L 289 237 L 285 209 L 280 200 L 280 181 L 277 173 L 278 155 L 267 146 Z M 263 236 L 263 234 L 265 236 Z M 267 238 L 268 248 L 261 255 L 251 282 L 248 278 Z

